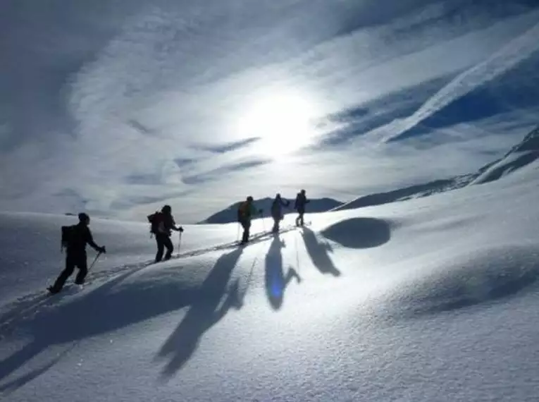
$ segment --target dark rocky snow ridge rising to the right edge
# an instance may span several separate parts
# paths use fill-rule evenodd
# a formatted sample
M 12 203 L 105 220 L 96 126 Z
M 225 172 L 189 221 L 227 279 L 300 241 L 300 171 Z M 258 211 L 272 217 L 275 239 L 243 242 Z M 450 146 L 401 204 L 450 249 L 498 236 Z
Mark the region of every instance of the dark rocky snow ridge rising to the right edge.
M 519 169 L 537 169 L 535 163 L 539 157 L 539 126 L 528 133 L 526 137 L 512 148 L 502 158 L 487 164 L 475 173 L 469 173 L 454 178 L 430 181 L 429 183 L 411 185 L 384 193 L 376 193 L 358 197 L 355 200 L 335 207 L 334 211 L 383 205 L 389 202 L 404 201 L 411 198 L 426 197 L 436 193 L 456 190 L 466 185 L 488 183 L 495 181 Z M 529 166 L 528 166 L 529 165 Z

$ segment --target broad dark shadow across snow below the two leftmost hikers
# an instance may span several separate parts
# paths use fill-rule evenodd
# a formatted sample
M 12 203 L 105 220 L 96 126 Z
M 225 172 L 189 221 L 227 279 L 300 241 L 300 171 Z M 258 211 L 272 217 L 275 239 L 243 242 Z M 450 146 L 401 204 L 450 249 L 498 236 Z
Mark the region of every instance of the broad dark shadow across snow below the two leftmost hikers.
M 58 293 L 38 303 L 39 310 L 34 310 L 32 315 L 24 313 L 18 319 L 11 320 L 9 327 L 25 331 L 33 339 L 0 362 L 0 379 L 18 370 L 49 346 L 86 339 L 143 322 L 185 307 L 197 296 L 196 288 L 178 281 L 137 281 L 130 286 L 116 286 L 135 272 L 137 269 L 120 275 L 80 298 L 66 289 L 66 293 Z M 73 300 L 62 300 L 66 296 L 73 296 Z M 13 317 L 16 308 L 9 312 L 10 317 Z M 12 391 L 37 375 L 39 372 L 20 377 L 12 381 L 10 386 L 1 387 Z

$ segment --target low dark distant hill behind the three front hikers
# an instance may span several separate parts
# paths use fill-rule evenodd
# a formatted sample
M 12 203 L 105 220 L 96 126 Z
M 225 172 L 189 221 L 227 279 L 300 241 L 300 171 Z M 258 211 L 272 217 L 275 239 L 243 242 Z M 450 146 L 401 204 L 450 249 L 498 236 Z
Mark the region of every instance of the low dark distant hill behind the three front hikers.
M 290 201 L 290 206 L 288 208 L 284 207 L 283 212 L 285 214 L 293 212 L 295 195 L 288 199 L 283 197 L 283 200 Z M 254 200 L 254 205 L 256 205 L 257 208 L 262 209 L 264 211 L 265 217 L 269 217 L 272 202 L 273 202 L 273 198 L 266 197 L 259 200 Z M 230 205 L 229 207 L 223 209 L 222 211 L 216 212 L 215 214 L 211 215 L 211 217 L 204 219 L 204 221 L 200 223 L 201 224 L 228 224 L 230 222 L 235 222 L 237 221 L 237 207 L 240 206 L 240 203 L 241 202 L 235 202 L 233 205 Z M 342 202 L 333 200 L 333 198 L 309 199 L 309 212 L 312 212 L 312 213 L 327 212 L 330 209 L 339 207 L 340 205 L 342 205 Z

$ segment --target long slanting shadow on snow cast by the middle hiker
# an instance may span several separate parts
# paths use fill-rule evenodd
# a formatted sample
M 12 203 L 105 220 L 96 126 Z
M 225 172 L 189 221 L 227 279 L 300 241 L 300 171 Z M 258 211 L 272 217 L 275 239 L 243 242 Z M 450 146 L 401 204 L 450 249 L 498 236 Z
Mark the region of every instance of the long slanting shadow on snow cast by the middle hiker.
M 169 359 L 161 372 L 162 377 L 171 377 L 178 372 L 197 350 L 204 332 L 222 319 L 230 307 L 237 305 L 237 286 L 233 286 L 233 291 L 230 292 L 227 291 L 227 285 L 241 254 L 242 248 L 238 248 L 221 255 L 202 282 L 197 298 L 158 353 L 159 357 Z M 226 298 L 219 306 L 225 294 Z

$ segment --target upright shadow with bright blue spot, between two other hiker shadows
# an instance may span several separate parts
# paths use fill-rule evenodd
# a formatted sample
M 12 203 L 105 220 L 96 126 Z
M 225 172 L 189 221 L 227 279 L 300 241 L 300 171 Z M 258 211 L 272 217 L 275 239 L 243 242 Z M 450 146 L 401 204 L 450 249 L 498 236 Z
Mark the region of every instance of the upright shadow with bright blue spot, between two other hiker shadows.
M 274 310 L 280 309 L 283 305 L 283 298 L 285 296 L 285 289 L 290 284 L 292 279 L 296 278 L 297 281 L 301 281 L 301 278 L 292 267 L 288 268 L 285 275 L 283 269 L 283 256 L 281 255 L 281 249 L 286 247 L 284 240 L 280 240 L 279 236 L 275 236 L 271 242 L 268 254 L 266 255 L 265 264 L 265 284 L 266 284 L 266 296 Z

